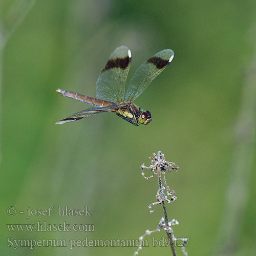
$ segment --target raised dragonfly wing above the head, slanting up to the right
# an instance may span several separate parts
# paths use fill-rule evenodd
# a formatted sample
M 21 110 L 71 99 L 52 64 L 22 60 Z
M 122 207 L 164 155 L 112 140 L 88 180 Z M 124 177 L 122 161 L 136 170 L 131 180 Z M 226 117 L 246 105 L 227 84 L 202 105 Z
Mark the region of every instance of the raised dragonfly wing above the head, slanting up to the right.
M 153 79 L 158 76 L 173 60 L 174 52 L 170 49 L 162 50 L 145 61 L 134 73 L 125 101 L 133 101 L 147 88 Z

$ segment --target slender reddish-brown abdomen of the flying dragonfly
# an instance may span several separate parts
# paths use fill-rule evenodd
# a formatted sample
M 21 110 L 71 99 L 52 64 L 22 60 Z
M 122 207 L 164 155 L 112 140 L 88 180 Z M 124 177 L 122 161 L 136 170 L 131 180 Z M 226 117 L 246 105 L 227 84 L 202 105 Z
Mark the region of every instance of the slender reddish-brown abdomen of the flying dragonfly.
M 86 95 L 82 95 L 79 93 L 74 93 L 66 90 L 61 90 L 57 89 L 56 92 L 60 93 L 62 96 L 71 98 L 71 99 L 76 99 L 94 106 L 112 106 L 115 105 L 116 103 L 111 102 L 111 101 L 106 101 L 106 100 L 101 100 L 101 99 L 95 99 Z

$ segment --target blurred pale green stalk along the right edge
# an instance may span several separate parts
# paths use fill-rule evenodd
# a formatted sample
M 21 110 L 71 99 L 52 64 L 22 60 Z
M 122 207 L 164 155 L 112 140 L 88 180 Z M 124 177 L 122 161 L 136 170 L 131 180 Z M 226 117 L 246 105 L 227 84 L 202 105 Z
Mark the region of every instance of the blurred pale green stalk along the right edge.
M 241 108 L 235 129 L 235 146 L 226 193 L 218 255 L 233 255 L 239 241 L 248 201 L 248 185 L 255 157 L 256 138 L 256 48 L 245 77 Z

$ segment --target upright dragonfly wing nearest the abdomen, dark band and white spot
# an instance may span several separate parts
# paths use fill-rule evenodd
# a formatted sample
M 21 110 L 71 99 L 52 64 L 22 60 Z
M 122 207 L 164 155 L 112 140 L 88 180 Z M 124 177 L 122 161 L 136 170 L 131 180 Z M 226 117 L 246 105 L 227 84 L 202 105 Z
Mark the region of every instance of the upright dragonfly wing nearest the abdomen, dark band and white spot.
M 127 46 L 118 47 L 101 70 L 96 83 L 96 98 L 111 102 L 124 100 L 125 82 L 132 60 Z

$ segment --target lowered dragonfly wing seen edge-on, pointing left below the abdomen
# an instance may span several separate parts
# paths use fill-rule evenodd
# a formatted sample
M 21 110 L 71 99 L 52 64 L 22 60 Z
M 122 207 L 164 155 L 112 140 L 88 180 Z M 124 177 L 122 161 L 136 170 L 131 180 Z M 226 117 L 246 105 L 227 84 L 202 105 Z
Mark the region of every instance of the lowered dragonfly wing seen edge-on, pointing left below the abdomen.
M 103 108 L 98 107 L 98 108 L 83 110 L 83 111 L 73 114 L 72 116 L 62 119 L 62 120 L 56 122 L 55 124 L 63 124 L 63 123 L 73 122 L 73 121 L 80 120 L 82 118 L 93 116 L 93 115 L 96 115 L 99 113 L 110 112 L 112 110 L 119 109 L 124 105 L 125 104 L 116 104 L 116 105 L 112 105 L 112 106 L 105 106 Z

